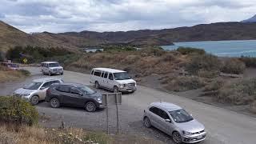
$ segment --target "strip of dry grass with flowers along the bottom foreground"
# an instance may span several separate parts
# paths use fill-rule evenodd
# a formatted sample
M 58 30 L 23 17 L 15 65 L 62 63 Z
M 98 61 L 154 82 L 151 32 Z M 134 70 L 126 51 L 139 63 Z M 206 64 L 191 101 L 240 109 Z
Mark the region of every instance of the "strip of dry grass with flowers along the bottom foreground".
M 150 138 L 136 138 L 128 135 L 110 136 L 103 133 L 93 133 L 82 129 L 65 130 L 45 129 L 42 127 L 15 127 L 11 124 L 0 125 L 0 143 L 2 144 L 157 144 L 162 143 Z

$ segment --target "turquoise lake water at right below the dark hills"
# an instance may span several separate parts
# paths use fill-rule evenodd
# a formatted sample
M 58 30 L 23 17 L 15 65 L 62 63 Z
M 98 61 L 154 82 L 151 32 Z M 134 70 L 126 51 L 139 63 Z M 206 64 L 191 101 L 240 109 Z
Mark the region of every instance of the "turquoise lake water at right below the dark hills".
M 256 57 L 256 40 L 174 42 L 175 46 L 162 46 L 164 50 L 175 50 L 178 46 L 194 47 L 220 57 Z

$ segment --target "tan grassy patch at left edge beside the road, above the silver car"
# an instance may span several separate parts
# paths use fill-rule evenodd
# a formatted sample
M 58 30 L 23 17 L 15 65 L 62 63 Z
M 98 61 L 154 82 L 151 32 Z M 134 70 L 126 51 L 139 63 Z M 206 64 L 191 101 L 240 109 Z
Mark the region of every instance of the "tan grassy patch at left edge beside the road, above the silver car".
M 10 82 L 19 78 L 26 78 L 30 75 L 27 70 L 10 70 L 4 66 L 0 66 L 0 82 Z

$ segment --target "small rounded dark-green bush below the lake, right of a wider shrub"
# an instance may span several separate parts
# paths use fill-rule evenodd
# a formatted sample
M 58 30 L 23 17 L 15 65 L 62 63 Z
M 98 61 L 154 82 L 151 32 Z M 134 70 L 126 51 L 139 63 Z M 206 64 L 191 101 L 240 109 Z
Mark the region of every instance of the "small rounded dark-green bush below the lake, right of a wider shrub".
M 221 71 L 227 74 L 243 74 L 245 69 L 244 62 L 238 60 L 238 58 L 229 58 L 224 62 Z

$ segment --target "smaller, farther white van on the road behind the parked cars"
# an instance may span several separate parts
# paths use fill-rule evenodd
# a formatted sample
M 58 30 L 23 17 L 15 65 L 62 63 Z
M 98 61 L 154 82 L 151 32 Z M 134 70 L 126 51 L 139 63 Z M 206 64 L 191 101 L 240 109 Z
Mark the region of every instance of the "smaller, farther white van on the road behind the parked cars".
M 41 63 L 42 74 L 63 74 L 63 67 L 58 62 L 42 62 Z

